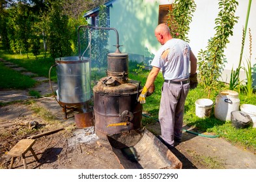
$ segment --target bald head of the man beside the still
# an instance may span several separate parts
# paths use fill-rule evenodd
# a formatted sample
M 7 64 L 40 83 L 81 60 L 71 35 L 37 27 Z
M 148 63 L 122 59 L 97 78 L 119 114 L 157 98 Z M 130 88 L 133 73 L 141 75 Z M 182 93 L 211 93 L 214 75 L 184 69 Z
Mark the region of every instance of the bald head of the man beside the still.
M 156 27 L 154 34 L 158 42 L 160 42 L 162 45 L 172 38 L 170 29 L 165 23 L 159 24 Z

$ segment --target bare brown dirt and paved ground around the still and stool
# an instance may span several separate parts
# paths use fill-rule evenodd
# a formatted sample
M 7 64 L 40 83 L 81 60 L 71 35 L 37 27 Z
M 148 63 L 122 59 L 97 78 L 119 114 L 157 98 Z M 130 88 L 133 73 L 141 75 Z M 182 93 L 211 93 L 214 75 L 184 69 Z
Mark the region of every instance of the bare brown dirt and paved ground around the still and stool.
M 41 96 L 51 94 L 50 85 L 45 78 L 36 77 L 41 81 L 33 90 Z M 53 84 L 56 90 L 57 85 Z M 14 102 L 19 100 L 20 102 Z M 33 100 L 33 102 L 31 101 Z M 32 105 L 27 104 L 28 102 Z M 31 135 L 63 130 L 51 135 L 36 138 L 33 149 L 39 161 L 26 153 L 27 168 L 33 169 L 119 169 L 122 168 L 118 157 L 109 148 L 109 143 L 100 140 L 94 133 L 94 127 L 78 129 L 74 113 L 64 118 L 63 109 L 53 97 L 34 99 L 28 96 L 28 90 L 0 90 L 0 102 L 8 105 L 0 107 L 0 169 L 10 166 L 11 157 L 8 151 L 21 139 Z M 12 103 L 10 103 L 12 102 Z M 33 109 L 34 107 L 34 109 Z M 46 110 L 54 120 L 46 121 L 36 113 L 35 107 Z M 29 123 L 36 121 L 36 129 L 30 129 Z M 158 122 L 146 128 L 154 135 L 160 135 Z M 184 129 L 191 130 L 186 125 Z M 206 135 L 210 135 L 205 133 Z M 182 162 L 184 169 L 255 169 L 256 155 L 245 148 L 234 146 L 223 138 L 208 138 L 185 132 L 182 142 L 171 152 Z M 154 160 L 154 159 L 152 159 Z M 18 157 L 13 168 L 22 169 L 23 162 Z

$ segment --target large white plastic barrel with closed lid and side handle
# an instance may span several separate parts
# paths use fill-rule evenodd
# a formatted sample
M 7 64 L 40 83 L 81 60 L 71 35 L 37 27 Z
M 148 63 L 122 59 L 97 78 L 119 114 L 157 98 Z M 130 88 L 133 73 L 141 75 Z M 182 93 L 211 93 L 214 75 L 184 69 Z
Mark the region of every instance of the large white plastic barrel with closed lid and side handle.
M 214 116 L 221 121 L 231 121 L 231 112 L 239 110 L 238 92 L 223 90 L 216 97 Z

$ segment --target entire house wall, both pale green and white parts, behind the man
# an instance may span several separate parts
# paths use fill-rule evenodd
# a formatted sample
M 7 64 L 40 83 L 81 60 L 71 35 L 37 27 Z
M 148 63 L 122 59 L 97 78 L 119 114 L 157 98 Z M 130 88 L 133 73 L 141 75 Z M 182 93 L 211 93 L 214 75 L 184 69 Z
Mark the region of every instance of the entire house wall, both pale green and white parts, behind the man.
M 174 0 L 118 0 L 110 7 L 110 26 L 119 31 L 119 42 L 122 53 L 128 53 L 130 60 L 138 62 L 152 59 L 154 53 L 161 46 L 155 36 L 154 29 L 158 25 L 158 6 L 171 4 Z M 225 55 L 227 63 L 222 75 L 222 81 L 229 83 L 232 67 L 237 68 L 240 59 L 242 43 L 242 27 L 245 25 L 248 1 L 236 0 L 239 5 L 236 16 L 239 17 L 233 29 L 233 36 L 229 37 Z M 193 13 L 190 24 L 190 46 L 195 55 L 201 49 L 205 50 L 208 40 L 214 36 L 215 19 L 218 17 L 218 0 L 195 0 L 197 8 Z M 252 0 L 251 12 L 248 21 L 248 28 L 251 28 L 252 35 L 252 57 L 253 77 L 256 79 L 256 0 Z M 109 32 L 110 50 L 115 51 L 115 33 Z M 249 57 L 249 32 L 246 34 L 244 45 L 243 62 Z M 242 63 L 242 65 L 244 65 Z M 241 79 L 245 79 L 244 72 L 240 74 Z M 256 85 L 254 81 L 253 85 Z

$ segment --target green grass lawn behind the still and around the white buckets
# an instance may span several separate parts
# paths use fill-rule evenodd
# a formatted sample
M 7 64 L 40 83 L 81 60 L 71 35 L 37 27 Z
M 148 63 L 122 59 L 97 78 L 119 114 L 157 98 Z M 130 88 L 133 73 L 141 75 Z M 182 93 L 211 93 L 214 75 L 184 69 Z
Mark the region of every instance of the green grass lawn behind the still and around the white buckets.
M 3 53 L 0 51 L 0 57 L 6 59 L 10 62 L 14 62 L 23 68 L 37 73 L 39 76 L 48 77 L 48 73 L 50 67 L 55 64 L 54 59 L 39 56 L 36 60 L 33 55 L 29 55 L 30 59 L 27 59 L 26 55 L 12 55 Z M 92 81 L 98 81 L 101 77 L 106 76 L 106 68 L 102 68 L 102 72 L 99 73 L 96 68 L 92 68 L 91 78 Z M 0 64 L 0 76 L 1 76 L 1 88 L 27 88 L 29 86 L 33 86 L 35 83 L 30 83 L 29 77 L 22 77 L 20 73 L 14 72 L 10 69 L 4 68 L 2 64 Z M 129 63 L 129 77 L 130 79 L 141 81 L 141 85 L 145 85 L 145 81 L 147 79 L 147 75 L 149 70 L 141 69 L 141 66 L 138 66 L 137 63 L 130 61 Z M 19 81 L 14 82 L 14 80 L 19 79 Z M 57 75 L 55 68 L 51 71 L 51 80 L 57 81 Z M 155 82 L 155 92 L 152 96 L 146 98 L 147 103 L 143 105 L 143 111 L 150 114 L 150 117 L 143 117 L 143 125 L 147 125 L 149 123 L 157 122 L 158 118 L 158 110 L 160 105 L 161 98 L 161 88 L 163 83 L 162 74 L 159 74 L 156 82 Z M 12 85 L 12 83 L 16 83 Z M 20 83 L 20 85 L 18 85 Z M 8 85 L 12 85 L 9 86 Z M 212 101 L 215 102 L 215 98 L 220 92 L 220 90 L 227 90 L 228 85 L 220 83 L 220 87 L 216 91 L 212 91 L 211 98 Z M 243 148 L 250 149 L 251 151 L 256 152 L 256 128 L 248 128 L 248 129 L 235 129 L 231 122 L 221 122 L 220 120 L 214 117 L 214 113 L 212 109 L 212 113 L 209 118 L 198 118 L 195 116 L 195 101 L 197 99 L 207 98 L 207 93 L 204 91 L 201 85 L 198 85 L 197 88 L 190 90 L 188 94 L 188 98 L 186 99 L 185 104 L 185 113 L 184 113 L 184 124 L 189 125 L 197 129 L 198 133 L 210 133 L 209 135 L 218 135 L 219 137 L 223 137 L 232 144 L 236 144 L 238 146 L 242 146 Z M 255 94 L 251 97 L 247 97 L 246 94 L 240 92 L 239 94 L 240 105 L 243 103 L 256 105 L 256 97 Z M 206 133 L 207 135 L 207 133 Z

